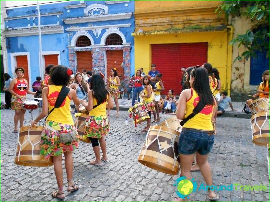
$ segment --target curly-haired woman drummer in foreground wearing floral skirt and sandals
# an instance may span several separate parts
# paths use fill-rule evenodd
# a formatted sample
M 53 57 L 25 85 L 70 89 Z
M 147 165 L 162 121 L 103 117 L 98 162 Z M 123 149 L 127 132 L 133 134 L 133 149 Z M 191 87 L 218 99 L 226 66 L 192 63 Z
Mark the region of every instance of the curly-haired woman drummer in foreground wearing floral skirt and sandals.
M 31 122 L 31 125 L 36 125 L 41 119 L 48 115 L 48 109 L 51 111 L 54 108 L 56 99 L 60 93 L 62 86 L 67 86 L 70 80 L 72 71 L 62 65 L 52 67 L 50 70 L 51 84 L 48 87 L 44 87 L 42 90 L 42 112 L 39 116 Z M 69 87 L 68 87 L 69 88 Z M 69 88 L 70 89 L 70 88 Z M 67 172 L 68 187 L 67 191 L 73 192 L 79 189 L 72 181 L 73 175 L 73 159 L 72 151 L 78 147 L 79 139 L 74 141 L 61 143 L 59 133 L 74 132 L 73 119 L 70 113 L 70 101 L 73 100 L 75 105 L 80 104 L 80 100 L 76 96 L 76 92 L 73 89 L 69 90 L 69 93 L 61 106 L 55 108 L 45 122 L 43 131 L 41 133 L 40 141 L 40 155 L 44 155 L 45 158 L 53 158 L 53 166 L 58 185 L 58 190 L 52 193 L 53 198 L 64 199 L 64 185 L 63 185 L 63 171 L 62 171 L 62 153 L 65 156 L 65 168 Z M 77 134 L 78 136 L 78 134 Z

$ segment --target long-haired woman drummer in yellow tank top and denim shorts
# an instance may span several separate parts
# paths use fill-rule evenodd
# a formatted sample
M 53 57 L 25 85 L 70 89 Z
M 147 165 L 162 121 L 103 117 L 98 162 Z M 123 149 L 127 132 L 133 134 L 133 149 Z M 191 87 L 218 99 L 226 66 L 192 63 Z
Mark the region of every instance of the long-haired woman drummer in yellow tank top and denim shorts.
M 192 113 L 201 101 L 205 104 L 203 110 L 188 120 L 180 134 L 178 152 L 181 161 L 181 176 L 191 180 L 191 166 L 196 154 L 197 164 L 208 186 L 213 185 L 211 168 L 207 157 L 214 144 L 214 129 L 212 120 L 216 111 L 216 100 L 209 87 L 208 73 L 205 68 L 198 67 L 191 71 L 191 89 L 182 91 L 179 97 L 176 116 L 184 119 Z M 217 200 L 216 195 L 208 190 L 208 199 Z

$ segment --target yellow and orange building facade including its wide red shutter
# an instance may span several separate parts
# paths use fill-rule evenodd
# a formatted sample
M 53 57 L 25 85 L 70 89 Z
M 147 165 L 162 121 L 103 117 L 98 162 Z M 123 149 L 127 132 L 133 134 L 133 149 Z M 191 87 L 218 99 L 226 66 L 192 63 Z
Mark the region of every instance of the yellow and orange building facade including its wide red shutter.
M 165 74 L 165 88 L 174 87 L 179 94 L 181 67 L 208 62 L 219 70 L 222 89 L 230 90 L 232 48 L 228 43 L 233 30 L 226 26 L 225 16 L 215 13 L 221 3 L 135 1 L 135 70 L 142 67 L 147 74 L 156 63 L 156 69 Z M 163 57 L 166 63 L 162 63 Z

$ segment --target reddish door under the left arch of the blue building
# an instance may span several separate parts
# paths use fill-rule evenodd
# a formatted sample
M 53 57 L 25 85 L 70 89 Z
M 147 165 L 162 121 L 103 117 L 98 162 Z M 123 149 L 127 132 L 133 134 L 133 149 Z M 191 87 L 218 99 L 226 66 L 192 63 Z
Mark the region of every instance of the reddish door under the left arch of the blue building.
M 92 53 L 91 51 L 77 51 L 77 72 L 92 71 Z

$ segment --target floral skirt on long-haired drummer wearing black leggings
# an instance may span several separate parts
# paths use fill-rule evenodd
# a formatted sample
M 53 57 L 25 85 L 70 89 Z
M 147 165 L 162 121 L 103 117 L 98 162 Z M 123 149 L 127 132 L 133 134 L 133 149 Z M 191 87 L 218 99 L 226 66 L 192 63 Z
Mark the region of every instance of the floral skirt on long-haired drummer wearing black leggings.
M 89 116 L 85 121 L 84 135 L 98 138 L 107 135 L 109 132 L 109 121 L 107 116 Z

